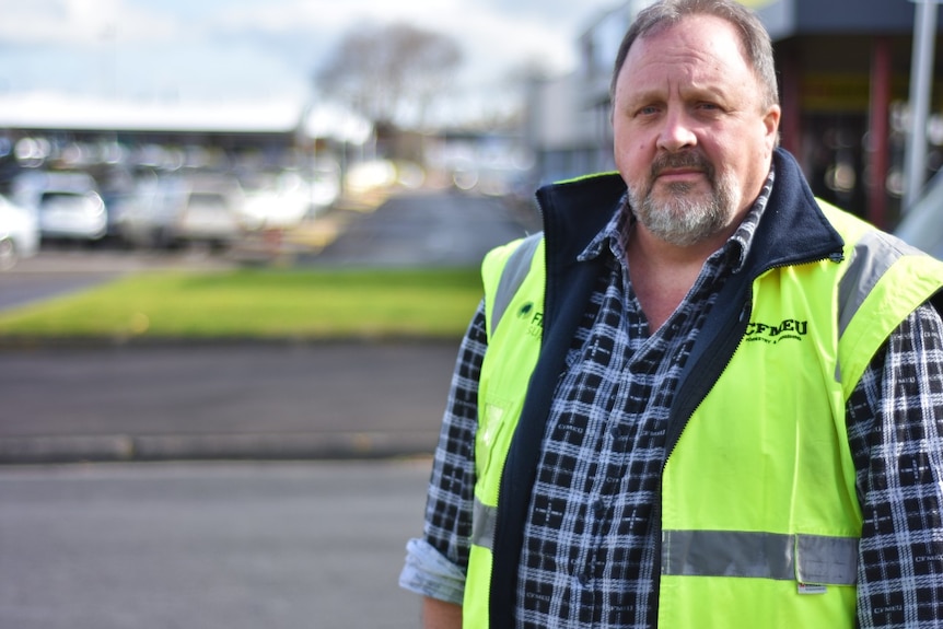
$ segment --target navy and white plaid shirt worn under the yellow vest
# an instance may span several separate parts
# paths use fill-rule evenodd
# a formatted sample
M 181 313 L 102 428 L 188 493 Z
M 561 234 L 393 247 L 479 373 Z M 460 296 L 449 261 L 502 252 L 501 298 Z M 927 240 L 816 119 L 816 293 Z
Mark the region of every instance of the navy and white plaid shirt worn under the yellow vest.
M 557 383 L 519 566 L 521 628 L 655 626 L 655 540 L 648 519 L 664 462 L 664 427 L 691 339 L 746 257 L 773 176 L 734 236 L 705 264 L 654 334 L 632 292 L 617 212 L 583 253 L 603 273 Z M 466 333 L 449 395 L 426 512 L 400 584 L 461 603 L 475 481 L 484 304 Z M 864 527 L 862 628 L 943 621 L 943 324 L 929 305 L 907 318 L 847 405 Z

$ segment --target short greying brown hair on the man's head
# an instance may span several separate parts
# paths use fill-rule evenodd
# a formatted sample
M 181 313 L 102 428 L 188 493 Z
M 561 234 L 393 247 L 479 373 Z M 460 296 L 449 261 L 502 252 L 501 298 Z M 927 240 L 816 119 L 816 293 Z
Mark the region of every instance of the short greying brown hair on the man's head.
M 778 105 L 779 89 L 776 82 L 776 65 L 769 33 L 753 11 L 734 0 L 659 0 L 643 9 L 629 26 L 619 46 L 613 80 L 609 84 L 610 100 L 615 102 L 619 72 L 636 39 L 659 33 L 689 15 L 713 15 L 730 22 L 737 28 L 746 60 L 762 86 L 764 106 Z

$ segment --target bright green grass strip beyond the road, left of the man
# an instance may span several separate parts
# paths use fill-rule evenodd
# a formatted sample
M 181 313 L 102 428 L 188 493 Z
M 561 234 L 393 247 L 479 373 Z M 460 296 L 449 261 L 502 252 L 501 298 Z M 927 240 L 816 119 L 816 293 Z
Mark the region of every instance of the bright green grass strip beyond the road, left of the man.
M 458 337 L 478 269 L 154 271 L 0 313 L 5 338 Z

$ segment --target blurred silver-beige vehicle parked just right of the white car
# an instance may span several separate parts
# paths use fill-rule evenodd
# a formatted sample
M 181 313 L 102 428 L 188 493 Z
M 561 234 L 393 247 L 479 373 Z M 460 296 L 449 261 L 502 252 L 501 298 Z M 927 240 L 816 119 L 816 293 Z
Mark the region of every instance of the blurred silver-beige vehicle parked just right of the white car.
M 137 246 L 232 245 L 246 231 L 244 194 L 234 177 L 214 174 L 154 177 L 116 208 L 121 237 Z

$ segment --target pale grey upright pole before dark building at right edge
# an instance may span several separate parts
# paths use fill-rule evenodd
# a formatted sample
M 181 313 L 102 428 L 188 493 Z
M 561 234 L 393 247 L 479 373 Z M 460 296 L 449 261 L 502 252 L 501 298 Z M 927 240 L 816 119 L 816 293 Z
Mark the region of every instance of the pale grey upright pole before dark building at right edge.
M 939 0 L 910 0 L 913 8 L 913 51 L 910 61 L 910 135 L 904 164 L 906 213 L 923 189 L 927 173 L 927 118 L 933 86 L 933 55 L 936 44 Z

